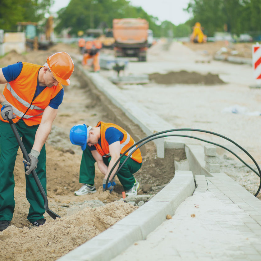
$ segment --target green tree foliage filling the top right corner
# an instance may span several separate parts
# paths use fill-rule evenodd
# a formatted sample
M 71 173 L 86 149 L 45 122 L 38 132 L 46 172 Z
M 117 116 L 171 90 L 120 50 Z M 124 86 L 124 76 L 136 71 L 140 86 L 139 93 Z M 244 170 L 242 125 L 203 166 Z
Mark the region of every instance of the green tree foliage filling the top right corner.
M 193 15 L 188 24 L 200 22 L 208 36 L 224 31 L 224 25 L 233 34 L 261 30 L 260 0 L 190 0 L 186 10 Z

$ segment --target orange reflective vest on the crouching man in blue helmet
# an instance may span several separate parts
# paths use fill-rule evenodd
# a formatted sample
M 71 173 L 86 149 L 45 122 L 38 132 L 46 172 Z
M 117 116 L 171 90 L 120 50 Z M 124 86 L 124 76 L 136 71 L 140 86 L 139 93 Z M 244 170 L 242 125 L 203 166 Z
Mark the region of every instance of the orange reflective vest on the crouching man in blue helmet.
M 95 144 L 94 146 L 96 147 L 98 153 L 105 158 L 110 157 L 109 144 L 108 144 L 107 140 L 105 139 L 105 131 L 108 128 L 114 127 L 123 133 L 123 139 L 120 141 L 120 144 L 121 144 L 120 154 L 123 154 L 126 151 L 126 149 L 129 149 L 135 143 L 135 141 L 132 139 L 131 135 L 116 124 L 99 121 L 96 127 L 99 127 L 99 126 L 101 126 L 100 135 L 101 135 L 101 145 L 102 146 L 100 146 L 98 143 Z M 125 155 L 128 156 L 129 153 L 131 153 L 136 147 L 137 147 L 137 145 L 135 147 L 133 147 L 132 149 L 130 149 Z M 133 160 L 135 160 L 138 163 L 141 163 L 142 156 L 140 153 L 140 149 L 136 149 L 135 152 L 132 153 L 130 158 L 132 158 Z

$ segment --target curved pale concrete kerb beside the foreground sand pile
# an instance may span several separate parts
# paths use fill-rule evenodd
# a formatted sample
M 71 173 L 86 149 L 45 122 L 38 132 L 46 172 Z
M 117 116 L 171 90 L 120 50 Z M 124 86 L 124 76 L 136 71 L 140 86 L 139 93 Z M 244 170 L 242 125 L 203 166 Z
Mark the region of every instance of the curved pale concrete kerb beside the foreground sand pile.
M 176 208 L 195 190 L 191 171 L 176 171 L 170 183 L 147 203 L 57 261 L 107 261 L 174 215 Z

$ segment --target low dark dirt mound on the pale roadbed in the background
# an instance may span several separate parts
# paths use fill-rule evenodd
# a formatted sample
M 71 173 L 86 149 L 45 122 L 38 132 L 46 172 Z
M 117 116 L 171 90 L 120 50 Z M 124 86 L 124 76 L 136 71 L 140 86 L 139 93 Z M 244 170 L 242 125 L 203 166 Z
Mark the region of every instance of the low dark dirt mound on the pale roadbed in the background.
M 152 73 L 149 75 L 149 80 L 153 80 L 159 84 L 202 84 L 214 85 L 224 83 L 217 74 L 208 73 L 202 75 L 197 72 L 168 72 L 167 74 Z

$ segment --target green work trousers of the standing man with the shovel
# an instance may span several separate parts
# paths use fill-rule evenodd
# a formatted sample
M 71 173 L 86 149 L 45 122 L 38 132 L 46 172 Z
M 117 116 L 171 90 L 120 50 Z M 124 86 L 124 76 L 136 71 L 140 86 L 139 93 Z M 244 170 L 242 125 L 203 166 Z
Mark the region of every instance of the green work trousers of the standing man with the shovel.
M 15 124 L 16 129 L 22 138 L 27 153 L 31 151 L 34 144 L 34 137 L 39 125 L 27 126 L 23 120 Z M 14 200 L 14 167 L 18 150 L 18 142 L 9 123 L 0 121 L 0 220 L 13 218 Z M 38 157 L 36 173 L 46 193 L 46 171 L 45 171 L 45 145 Z M 24 167 L 24 163 L 19 164 Z M 26 169 L 25 169 L 26 171 Z M 33 223 L 39 218 L 43 218 L 44 201 L 39 189 L 34 181 L 33 175 L 25 175 L 26 198 L 30 203 L 28 220 Z

